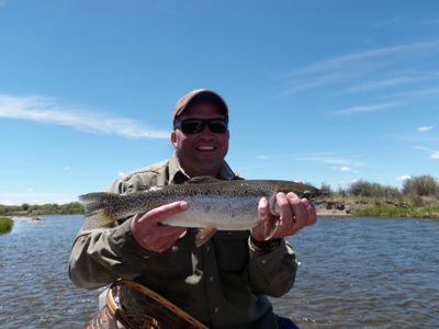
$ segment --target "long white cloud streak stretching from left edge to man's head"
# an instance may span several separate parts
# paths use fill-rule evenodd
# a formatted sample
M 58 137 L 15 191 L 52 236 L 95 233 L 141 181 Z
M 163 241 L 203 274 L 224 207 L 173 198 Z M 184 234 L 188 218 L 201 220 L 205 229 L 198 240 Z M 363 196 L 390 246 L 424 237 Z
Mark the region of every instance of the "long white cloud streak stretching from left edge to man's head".
M 150 129 L 142 123 L 105 113 L 71 109 L 38 95 L 0 94 L 0 117 L 63 125 L 78 131 L 112 134 L 128 138 L 169 138 L 169 132 Z

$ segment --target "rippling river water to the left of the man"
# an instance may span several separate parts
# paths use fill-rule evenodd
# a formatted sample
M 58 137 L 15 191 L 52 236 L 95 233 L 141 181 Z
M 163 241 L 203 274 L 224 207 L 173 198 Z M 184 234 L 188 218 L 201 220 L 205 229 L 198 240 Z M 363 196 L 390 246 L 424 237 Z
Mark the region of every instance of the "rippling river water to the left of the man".
M 15 222 L 0 235 L 0 328 L 83 328 L 97 291 L 75 287 L 68 258 L 80 216 Z

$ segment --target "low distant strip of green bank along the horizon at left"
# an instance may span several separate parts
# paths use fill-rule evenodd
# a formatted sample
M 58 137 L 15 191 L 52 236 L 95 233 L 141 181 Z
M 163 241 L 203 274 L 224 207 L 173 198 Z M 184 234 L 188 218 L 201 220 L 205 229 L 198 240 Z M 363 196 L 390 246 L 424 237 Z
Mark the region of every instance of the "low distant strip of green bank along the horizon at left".
M 0 205 L 0 216 L 38 216 L 38 215 L 67 215 L 82 214 L 83 208 L 79 202 L 63 205 L 56 203 L 43 205 L 22 204 L 21 206 Z

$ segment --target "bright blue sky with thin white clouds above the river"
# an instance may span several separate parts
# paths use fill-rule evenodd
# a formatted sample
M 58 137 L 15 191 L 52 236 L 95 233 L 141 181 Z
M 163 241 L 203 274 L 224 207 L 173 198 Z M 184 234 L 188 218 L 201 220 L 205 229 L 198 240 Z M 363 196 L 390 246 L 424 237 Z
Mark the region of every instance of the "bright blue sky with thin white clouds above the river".
M 247 179 L 439 177 L 439 1 L 0 0 L 0 204 L 169 158 L 199 88 L 226 100 Z

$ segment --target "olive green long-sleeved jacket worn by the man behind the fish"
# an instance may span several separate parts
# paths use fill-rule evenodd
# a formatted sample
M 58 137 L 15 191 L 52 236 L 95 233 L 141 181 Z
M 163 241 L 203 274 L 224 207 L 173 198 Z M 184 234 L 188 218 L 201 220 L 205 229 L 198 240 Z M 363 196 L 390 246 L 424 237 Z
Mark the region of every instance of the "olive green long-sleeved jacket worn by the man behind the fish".
M 219 178 L 241 179 L 226 162 Z M 172 156 L 116 180 L 110 191 L 131 193 L 188 179 Z M 224 230 L 196 248 L 195 234 L 188 229 L 169 250 L 157 253 L 136 243 L 130 219 L 114 227 L 81 229 L 71 249 L 70 279 L 86 288 L 117 279 L 137 281 L 210 328 L 277 328 L 266 295 L 279 297 L 292 287 L 297 270 L 292 248 L 282 241 L 269 253 L 254 251 L 249 231 Z

